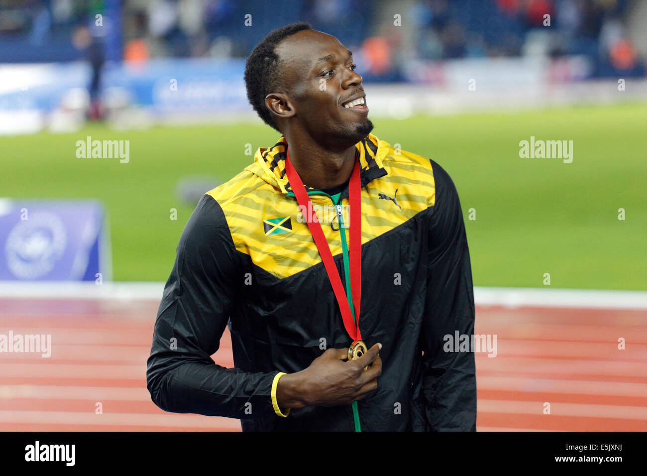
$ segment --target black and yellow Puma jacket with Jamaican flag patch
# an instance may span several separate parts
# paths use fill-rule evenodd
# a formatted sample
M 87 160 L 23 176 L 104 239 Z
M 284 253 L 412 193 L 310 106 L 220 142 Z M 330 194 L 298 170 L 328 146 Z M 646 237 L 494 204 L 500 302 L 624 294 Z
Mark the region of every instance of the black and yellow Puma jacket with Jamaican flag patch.
M 351 344 L 287 181 L 285 143 L 281 137 L 259 148 L 253 164 L 206 193 L 193 211 L 157 314 L 148 390 L 166 411 L 240 418 L 244 431 L 353 431 L 351 405 L 276 405 L 282 372 L 303 370 L 325 348 Z M 443 350 L 444 336 L 474 334 L 470 256 L 454 183 L 435 162 L 375 135 L 356 150 L 360 330 L 367 346 L 382 343 L 378 389 L 357 402 L 362 431 L 474 431 L 474 353 Z M 347 286 L 347 220 L 334 214 L 328 194 L 305 188 L 320 206 Z M 340 204 L 345 210 L 347 188 Z M 210 357 L 228 323 L 234 368 Z

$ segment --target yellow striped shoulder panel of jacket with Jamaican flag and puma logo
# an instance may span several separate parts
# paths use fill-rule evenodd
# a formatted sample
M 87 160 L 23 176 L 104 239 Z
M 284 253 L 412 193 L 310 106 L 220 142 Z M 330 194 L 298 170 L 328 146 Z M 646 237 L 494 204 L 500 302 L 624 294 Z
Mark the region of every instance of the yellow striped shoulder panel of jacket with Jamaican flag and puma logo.
M 386 153 L 380 154 L 380 158 L 387 175 L 362 188 L 362 244 L 402 225 L 435 202 L 429 159 L 394 149 L 380 140 L 380 152 L 383 150 Z M 259 163 L 253 166 L 258 166 L 258 173 L 262 174 Z M 250 167 L 207 193 L 222 207 L 236 249 L 250 256 L 256 266 L 286 278 L 321 262 L 296 200 L 252 173 Z M 333 202 L 320 194 L 311 195 L 310 199 L 333 256 L 341 254 Z M 347 198 L 342 201 L 342 208 L 347 224 Z M 344 231 L 348 243 L 350 230 Z

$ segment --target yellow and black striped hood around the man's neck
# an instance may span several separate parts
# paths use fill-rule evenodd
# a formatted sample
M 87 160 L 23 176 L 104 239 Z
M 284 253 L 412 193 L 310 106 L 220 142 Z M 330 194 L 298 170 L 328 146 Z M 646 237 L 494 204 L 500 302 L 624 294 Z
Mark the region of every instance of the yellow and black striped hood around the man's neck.
M 245 170 L 260 177 L 273 187 L 281 190 L 281 193 L 294 196 L 292 188 L 285 174 L 285 146 L 287 141 L 284 136 L 270 148 L 259 148 L 254 154 L 254 163 L 248 165 Z M 355 148 L 360 158 L 360 184 L 362 187 L 377 177 L 387 174 L 382 164 L 382 159 L 389 150 L 389 144 L 381 141 L 375 135 L 367 135 L 364 139 L 355 144 Z M 316 190 L 313 187 L 305 185 L 306 192 Z M 342 193 L 342 198 L 347 196 L 348 192 Z

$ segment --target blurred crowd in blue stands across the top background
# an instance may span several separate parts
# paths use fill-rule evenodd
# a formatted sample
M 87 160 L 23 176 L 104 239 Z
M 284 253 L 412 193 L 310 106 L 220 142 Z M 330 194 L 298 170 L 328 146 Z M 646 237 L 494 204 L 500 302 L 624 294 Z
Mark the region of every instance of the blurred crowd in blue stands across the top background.
M 401 80 L 407 58 L 531 54 L 586 55 L 604 76 L 642 67 L 628 32 L 635 1 L 27 0 L 0 4 L 0 61 L 96 60 L 107 41 L 96 15 L 112 7 L 116 57 L 105 54 L 129 62 L 244 58 L 272 28 L 309 21 L 358 51 L 372 80 Z

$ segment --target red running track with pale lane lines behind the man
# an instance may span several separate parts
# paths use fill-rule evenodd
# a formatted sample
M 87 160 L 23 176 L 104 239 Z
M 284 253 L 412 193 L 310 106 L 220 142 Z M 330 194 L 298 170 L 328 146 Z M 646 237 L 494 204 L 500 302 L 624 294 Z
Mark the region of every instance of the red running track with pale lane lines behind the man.
M 0 334 L 51 334 L 52 354 L 0 353 L 0 431 L 240 431 L 151 402 L 157 305 L 1 299 Z M 476 334 L 497 336 L 476 356 L 479 431 L 647 430 L 646 311 L 478 307 Z M 213 358 L 233 367 L 227 330 Z

